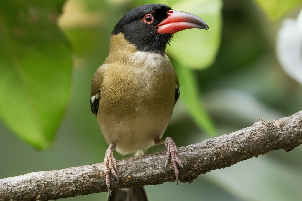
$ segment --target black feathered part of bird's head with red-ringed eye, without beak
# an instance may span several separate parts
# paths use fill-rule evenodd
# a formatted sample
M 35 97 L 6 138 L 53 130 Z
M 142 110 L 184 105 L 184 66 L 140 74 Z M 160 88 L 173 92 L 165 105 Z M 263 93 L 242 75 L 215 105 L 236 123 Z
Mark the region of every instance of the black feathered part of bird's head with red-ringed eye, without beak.
M 165 4 L 148 4 L 134 8 L 115 25 L 112 34 L 123 33 L 125 39 L 144 52 L 165 53 L 171 33 L 157 33 L 158 24 L 171 8 Z

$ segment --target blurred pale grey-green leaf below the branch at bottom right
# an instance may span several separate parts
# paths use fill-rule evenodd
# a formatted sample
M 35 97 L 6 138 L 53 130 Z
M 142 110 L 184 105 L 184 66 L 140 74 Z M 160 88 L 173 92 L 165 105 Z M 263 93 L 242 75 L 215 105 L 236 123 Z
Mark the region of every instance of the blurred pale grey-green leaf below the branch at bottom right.
M 287 155 L 295 155 L 297 162 L 301 155 L 299 149 L 300 147 L 297 147 Z M 302 179 L 300 167 L 297 163 L 290 166 L 280 158 L 273 160 L 270 155 L 274 152 L 259 155 L 259 158 L 248 159 L 222 170 L 208 172 L 204 177 L 214 180 L 242 200 L 300 200 L 302 196 L 299 188 Z M 298 188 L 295 188 L 296 186 Z

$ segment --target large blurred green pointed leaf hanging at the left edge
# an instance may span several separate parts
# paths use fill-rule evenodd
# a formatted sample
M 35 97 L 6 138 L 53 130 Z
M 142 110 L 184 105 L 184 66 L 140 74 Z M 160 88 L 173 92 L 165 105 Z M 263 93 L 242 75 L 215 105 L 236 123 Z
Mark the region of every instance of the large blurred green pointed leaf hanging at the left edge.
M 0 118 L 39 149 L 50 146 L 69 101 L 71 53 L 56 24 L 63 2 L 0 2 Z

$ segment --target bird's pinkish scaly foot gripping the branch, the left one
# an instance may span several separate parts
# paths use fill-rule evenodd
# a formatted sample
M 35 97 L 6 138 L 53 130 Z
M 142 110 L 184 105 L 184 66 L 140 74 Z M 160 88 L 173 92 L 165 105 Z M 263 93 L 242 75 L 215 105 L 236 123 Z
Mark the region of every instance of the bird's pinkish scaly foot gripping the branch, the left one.
M 110 192 L 110 172 L 115 176 L 117 179 L 117 183 L 119 183 L 118 176 L 116 174 L 117 167 L 116 167 L 116 159 L 113 157 L 113 150 L 115 149 L 115 144 L 111 143 L 105 152 L 105 158 L 104 158 L 104 163 L 105 163 L 105 170 L 104 173 L 106 175 L 106 185 L 109 194 L 111 195 Z

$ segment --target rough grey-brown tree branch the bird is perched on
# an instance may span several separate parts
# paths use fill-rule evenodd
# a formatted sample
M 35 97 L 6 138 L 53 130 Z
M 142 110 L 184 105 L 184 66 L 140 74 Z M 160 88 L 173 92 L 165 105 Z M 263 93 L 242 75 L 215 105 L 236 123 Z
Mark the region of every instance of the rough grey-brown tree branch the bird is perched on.
M 259 120 L 252 126 L 178 148 L 184 170 L 181 182 L 225 168 L 272 150 L 291 151 L 302 143 L 302 111 L 276 121 Z M 165 169 L 165 152 L 117 161 L 120 183 L 114 190 L 175 181 L 172 165 Z M 50 200 L 107 191 L 103 163 L 42 171 L 0 179 L 0 200 Z

